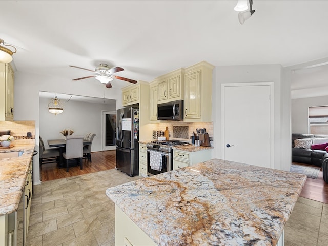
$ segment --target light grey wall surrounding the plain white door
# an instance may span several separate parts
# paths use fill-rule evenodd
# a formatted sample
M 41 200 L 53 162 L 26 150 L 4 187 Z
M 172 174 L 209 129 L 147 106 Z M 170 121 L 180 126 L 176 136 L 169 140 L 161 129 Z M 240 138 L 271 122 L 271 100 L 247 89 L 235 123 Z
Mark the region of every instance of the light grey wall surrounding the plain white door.
M 280 65 L 218 66 L 213 80 L 214 158 L 222 156 L 221 132 L 221 84 L 269 82 L 274 83 L 274 167 L 290 170 L 291 148 L 285 139 L 290 136 L 290 80 L 284 79 Z M 286 91 L 282 93 L 283 91 Z M 289 92 L 289 93 L 288 93 Z M 256 150 L 254 150 L 256 152 Z M 254 153 L 255 153 L 254 152 Z M 254 154 L 250 153 L 250 154 Z

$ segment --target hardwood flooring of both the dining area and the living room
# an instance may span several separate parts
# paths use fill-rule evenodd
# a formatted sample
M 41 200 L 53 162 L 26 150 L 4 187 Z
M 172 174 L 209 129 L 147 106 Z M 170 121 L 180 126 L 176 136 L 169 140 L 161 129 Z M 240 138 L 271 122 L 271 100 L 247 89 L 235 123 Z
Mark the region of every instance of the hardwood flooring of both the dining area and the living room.
M 40 169 L 41 181 L 66 178 L 115 168 L 115 150 L 92 152 L 91 156 L 92 163 L 86 159 L 83 160 L 83 170 L 80 170 L 79 167 L 71 167 L 69 168 L 68 173 L 66 172 L 66 168 L 57 168 L 56 163 L 44 164 Z M 323 181 L 322 170 L 320 171 L 317 179 L 308 178 L 306 180 L 300 196 L 311 200 L 328 203 L 328 183 Z

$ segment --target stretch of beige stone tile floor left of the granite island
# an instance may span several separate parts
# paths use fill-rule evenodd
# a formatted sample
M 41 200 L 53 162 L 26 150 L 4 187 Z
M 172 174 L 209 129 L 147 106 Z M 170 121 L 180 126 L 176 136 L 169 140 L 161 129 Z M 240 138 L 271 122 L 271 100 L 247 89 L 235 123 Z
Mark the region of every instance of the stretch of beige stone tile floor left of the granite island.
M 35 185 L 26 245 L 115 245 L 115 206 L 106 189 L 140 178 L 111 169 Z

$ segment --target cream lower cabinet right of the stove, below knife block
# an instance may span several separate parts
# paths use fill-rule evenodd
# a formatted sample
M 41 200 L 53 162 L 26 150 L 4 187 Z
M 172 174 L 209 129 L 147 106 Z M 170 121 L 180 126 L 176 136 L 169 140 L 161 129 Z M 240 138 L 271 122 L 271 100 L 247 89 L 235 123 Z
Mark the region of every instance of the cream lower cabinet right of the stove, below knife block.
M 192 166 L 210 159 L 212 159 L 212 149 L 193 152 L 173 149 L 173 170 Z

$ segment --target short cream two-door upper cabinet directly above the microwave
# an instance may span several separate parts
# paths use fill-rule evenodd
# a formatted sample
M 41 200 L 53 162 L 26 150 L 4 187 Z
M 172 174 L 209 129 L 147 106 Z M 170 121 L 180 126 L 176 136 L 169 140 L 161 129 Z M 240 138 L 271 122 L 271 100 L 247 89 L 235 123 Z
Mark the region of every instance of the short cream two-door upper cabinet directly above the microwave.
M 156 78 L 158 104 L 183 99 L 183 74 L 184 69 L 180 68 Z

